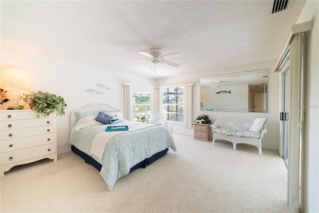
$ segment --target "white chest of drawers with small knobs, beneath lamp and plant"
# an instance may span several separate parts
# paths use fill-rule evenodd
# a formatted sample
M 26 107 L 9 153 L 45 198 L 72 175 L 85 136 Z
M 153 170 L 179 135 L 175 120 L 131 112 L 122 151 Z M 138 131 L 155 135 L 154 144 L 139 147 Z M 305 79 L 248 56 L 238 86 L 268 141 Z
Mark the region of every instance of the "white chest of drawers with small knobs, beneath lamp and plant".
M 57 161 L 55 114 L 36 118 L 32 110 L 1 110 L 0 174 L 44 158 Z

